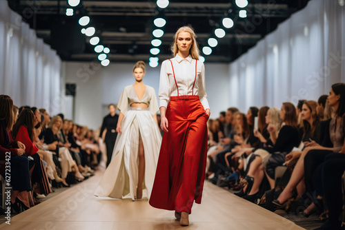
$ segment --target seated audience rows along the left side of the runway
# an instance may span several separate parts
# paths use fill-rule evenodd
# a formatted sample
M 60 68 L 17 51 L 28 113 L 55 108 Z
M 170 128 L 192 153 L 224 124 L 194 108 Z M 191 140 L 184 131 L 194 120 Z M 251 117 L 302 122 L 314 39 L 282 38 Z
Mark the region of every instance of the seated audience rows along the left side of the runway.
M 13 105 L 0 95 L 0 173 L 10 172 L 11 209 L 40 203 L 54 187 L 70 187 L 94 174 L 101 160 L 95 134 L 46 109 Z M 4 207 L 3 207 L 4 208 Z

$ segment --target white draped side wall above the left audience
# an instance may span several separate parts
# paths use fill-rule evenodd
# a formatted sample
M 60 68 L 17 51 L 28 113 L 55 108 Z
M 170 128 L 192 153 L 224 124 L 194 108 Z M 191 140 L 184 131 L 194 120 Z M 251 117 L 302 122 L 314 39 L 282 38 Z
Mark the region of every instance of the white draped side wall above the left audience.
M 0 94 L 14 105 L 60 110 L 61 60 L 17 12 L 0 1 Z M 0 105 L 1 106 L 1 105 Z

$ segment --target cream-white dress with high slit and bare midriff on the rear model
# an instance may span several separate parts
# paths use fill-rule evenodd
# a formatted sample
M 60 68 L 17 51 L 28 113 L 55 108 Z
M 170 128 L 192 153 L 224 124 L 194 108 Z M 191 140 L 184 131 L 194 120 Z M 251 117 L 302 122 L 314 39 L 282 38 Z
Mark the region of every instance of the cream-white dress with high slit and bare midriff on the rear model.
M 148 107 L 132 107 L 132 104 L 138 103 L 146 104 Z M 130 109 L 128 105 L 132 105 Z M 130 196 L 132 200 L 137 198 L 140 176 L 138 151 L 139 141 L 142 141 L 145 158 L 142 188 L 146 189 L 147 197 L 150 198 L 161 147 L 161 134 L 155 121 L 157 119 L 154 119 L 159 111 L 155 89 L 145 85 L 144 95 L 139 99 L 135 87 L 128 85 L 122 92 L 117 107 L 123 114 L 119 117 L 121 122 L 123 116 L 121 125 L 117 125 L 120 127 L 117 131 L 119 130 L 120 133 L 117 135 L 112 160 L 95 191 L 95 196 L 111 198 Z

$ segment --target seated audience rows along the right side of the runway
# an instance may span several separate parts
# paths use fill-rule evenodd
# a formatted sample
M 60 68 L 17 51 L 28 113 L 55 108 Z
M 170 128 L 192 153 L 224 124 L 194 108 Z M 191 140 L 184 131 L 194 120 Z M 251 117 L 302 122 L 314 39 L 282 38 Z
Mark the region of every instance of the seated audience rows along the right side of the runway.
M 301 213 L 318 211 L 326 220 L 319 229 L 342 229 L 344 124 L 344 83 L 297 107 L 286 102 L 281 109 L 250 107 L 246 114 L 230 107 L 208 121 L 206 176 L 271 211 L 275 205 L 298 213 L 291 207 L 308 204 Z

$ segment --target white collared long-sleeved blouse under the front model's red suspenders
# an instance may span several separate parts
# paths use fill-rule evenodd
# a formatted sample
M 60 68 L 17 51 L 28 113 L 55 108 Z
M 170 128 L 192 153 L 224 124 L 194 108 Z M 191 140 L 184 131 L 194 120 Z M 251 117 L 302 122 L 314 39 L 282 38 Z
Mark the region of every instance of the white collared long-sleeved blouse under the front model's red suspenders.
M 176 83 L 179 87 L 179 96 L 197 95 L 200 98 L 204 109 L 210 109 L 205 91 L 205 66 L 202 61 L 197 62 L 197 79 L 195 80 L 195 59 L 188 56 L 186 59 L 176 55 L 170 59 L 174 67 Z M 194 93 L 193 93 L 193 83 Z M 175 84 L 174 74 L 172 72 L 169 60 L 161 63 L 161 76 L 159 80 L 159 107 L 167 107 L 170 96 L 177 96 L 177 87 Z

